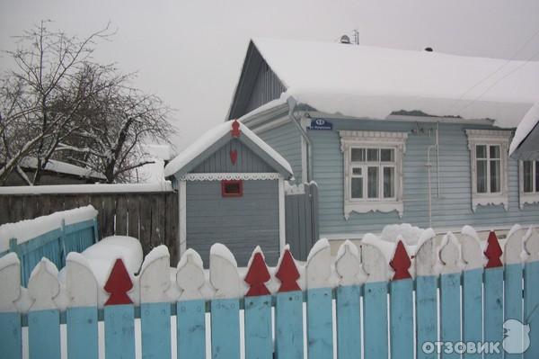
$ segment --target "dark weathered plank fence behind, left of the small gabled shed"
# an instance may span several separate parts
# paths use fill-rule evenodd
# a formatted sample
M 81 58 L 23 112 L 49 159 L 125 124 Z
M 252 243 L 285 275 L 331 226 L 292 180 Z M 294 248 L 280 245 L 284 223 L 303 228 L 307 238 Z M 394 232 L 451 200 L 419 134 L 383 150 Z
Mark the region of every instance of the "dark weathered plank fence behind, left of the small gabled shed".
M 0 224 L 30 220 L 55 211 L 92 204 L 99 211 L 100 239 L 118 235 L 138 238 L 146 255 L 161 244 L 178 263 L 178 193 L 40 193 L 0 195 Z

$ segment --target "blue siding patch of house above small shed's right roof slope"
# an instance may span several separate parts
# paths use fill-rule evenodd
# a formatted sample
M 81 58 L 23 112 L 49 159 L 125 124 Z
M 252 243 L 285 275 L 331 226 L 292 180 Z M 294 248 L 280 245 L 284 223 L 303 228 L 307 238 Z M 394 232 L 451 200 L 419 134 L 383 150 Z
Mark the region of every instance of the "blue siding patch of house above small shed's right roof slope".
M 301 175 L 301 135 L 296 125 L 290 121 L 273 128 L 257 132 L 257 135 L 275 149 L 292 166 L 297 183 L 302 181 Z

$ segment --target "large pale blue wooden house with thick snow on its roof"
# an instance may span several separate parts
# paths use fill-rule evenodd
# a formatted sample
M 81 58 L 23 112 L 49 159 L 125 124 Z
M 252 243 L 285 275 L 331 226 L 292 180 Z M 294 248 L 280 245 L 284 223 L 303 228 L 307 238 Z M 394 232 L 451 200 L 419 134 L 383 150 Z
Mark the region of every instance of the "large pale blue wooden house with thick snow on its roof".
M 227 119 L 319 186 L 319 229 L 539 223 L 537 162 L 508 157 L 539 63 L 342 43 L 252 40 Z

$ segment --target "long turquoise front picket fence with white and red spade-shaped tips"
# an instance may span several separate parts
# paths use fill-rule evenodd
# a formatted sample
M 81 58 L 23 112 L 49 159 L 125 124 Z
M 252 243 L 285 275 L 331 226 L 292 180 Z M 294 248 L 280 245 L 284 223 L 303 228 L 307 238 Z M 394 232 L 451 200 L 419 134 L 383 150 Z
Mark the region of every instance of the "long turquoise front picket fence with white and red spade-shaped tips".
M 65 286 L 40 262 L 29 281 L 33 304 L 24 309 L 17 304 L 26 302 L 24 291 L 9 275 L 19 262 L 0 258 L 3 355 L 20 358 L 27 347 L 30 358 L 62 351 L 69 358 L 98 358 L 100 351 L 106 358 L 539 358 L 535 229 L 516 228 L 505 241 L 491 232 L 486 243 L 432 233 L 417 250 L 402 240 L 388 249 L 380 240 L 347 241 L 334 257 L 321 239 L 305 265 L 284 248 L 276 268 L 257 248 L 245 270 L 217 244 L 208 275 L 192 250 L 170 268 L 160 246 L 135 277 L 118 259 L 106 283 L 71 254 Z M 62 291 L 66 308 L 55 301 Z M 510 329 L 521 329 L 521 337 Z

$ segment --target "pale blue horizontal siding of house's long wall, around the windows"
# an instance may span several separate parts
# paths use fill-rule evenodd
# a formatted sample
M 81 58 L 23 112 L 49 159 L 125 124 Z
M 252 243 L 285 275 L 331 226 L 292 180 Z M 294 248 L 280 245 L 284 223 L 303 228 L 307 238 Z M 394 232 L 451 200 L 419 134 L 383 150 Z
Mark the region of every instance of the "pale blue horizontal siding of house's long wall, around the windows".
M 415 122 L 331 120 L 334 130 L 309 130 L 313 142 L 314 180 L 319 185 L 319 224 L 321 236 L 380 232 L 385 225 L 411 223 L 429 227 L 427 148 L 436 143 L 435 123 L 420 122 L 423 131 L 411 133 Z M 515 223 L 539 222 L 539 205 L 518 206 L 517 161 L 508 164 L 509 208 L 478 206 L 472 211 L 470 152 L 464 129 L 490 129 L 490 126 L 440 124 L 440 195 L 437 197 L 436 150 L 431 151 L 432 226 L 434 229 L 460 229 L 464 224 L 479 229 L 510 227 Z M 403 159 L 404 212 L 368 212 L 343 215 L 343 157 L 338 130 L 384 130 L 408 133 Z M 336 236 L 339 237 L 339 236 Z

